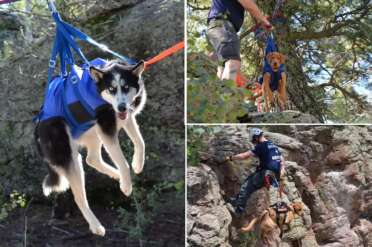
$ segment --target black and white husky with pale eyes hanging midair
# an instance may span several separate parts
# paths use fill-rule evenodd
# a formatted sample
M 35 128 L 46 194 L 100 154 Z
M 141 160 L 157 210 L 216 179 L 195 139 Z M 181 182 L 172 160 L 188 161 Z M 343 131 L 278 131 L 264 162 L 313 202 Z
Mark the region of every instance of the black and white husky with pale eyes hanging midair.
M 105 228 L 90 210 L 84 188 L 84 171 L 78 146 L 86 146 L 86 162 L 98 171 L 120 180 L 120 189 L 125 195 L 132 192 L 128 162 L 122 154 L 118 132 L 124 128 L 134 144 L 132 169 L 136 174 L 142 171 L 145 158 L 145 144 L 138 129 L 135 115 L 144 107 L 146 92 L 141 73 L 142 60 L 137 65 L 124 61 L 108 61 L 101 67 L 90 66 L 89 73 L 96 93 L 107 101 L 105 107 L 96 111 L 94 125 L 78 138 L 73 139 L 71 129 L 61 117 L 39 121 L 34 132 L 40 155 L 47 163 L 49 174 L 43 182 L 44 194 L 63 192 L 71 187 L 75 201 L 90 230 L 104 235 Z M 105 103 L 107 103 L 105 102 Z M 106 148 L 118 169 L 106 164 L 101 156 L 101 146 Z

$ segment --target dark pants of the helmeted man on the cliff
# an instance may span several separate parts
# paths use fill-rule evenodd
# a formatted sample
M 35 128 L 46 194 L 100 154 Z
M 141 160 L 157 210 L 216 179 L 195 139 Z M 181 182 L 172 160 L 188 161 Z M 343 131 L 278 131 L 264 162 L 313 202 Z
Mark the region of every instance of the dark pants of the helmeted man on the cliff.
M 265 187 L 266 170 L 268 171 L 270 184 L 273 183 L 272 174 L 275 175 L 276 181 L 279 181 L 280 178 L 279 171 L 273 171 L 270 169 L 260 169 L 259 172 L 250 175 L 246 179 L 246 181 L 244 181 L 243 185 L 241 185 L 240 191 L 238 191 L 237 195 L 234 198 L 234 201 L 236 203 L 236 212 L 238 214 L 244 213 L 244 211 L 246 210 L 247 201 L 251 194 Z

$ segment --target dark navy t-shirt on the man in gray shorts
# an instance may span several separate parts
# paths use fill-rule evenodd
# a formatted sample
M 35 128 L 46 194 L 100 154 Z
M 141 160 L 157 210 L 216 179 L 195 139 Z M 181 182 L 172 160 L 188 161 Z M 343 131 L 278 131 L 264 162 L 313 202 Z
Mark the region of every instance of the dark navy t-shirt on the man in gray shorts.
M 230 14 L 227 13 L 229 11 Z M 244 7 L 237 0 L 212 0 L 212 6 L 208 14 L 208 22 L 212 18 L 221 18 L 219 13 L 226 14 L 229 20 L 235 27 L 235 31 L 239 32 L 244 21 Z

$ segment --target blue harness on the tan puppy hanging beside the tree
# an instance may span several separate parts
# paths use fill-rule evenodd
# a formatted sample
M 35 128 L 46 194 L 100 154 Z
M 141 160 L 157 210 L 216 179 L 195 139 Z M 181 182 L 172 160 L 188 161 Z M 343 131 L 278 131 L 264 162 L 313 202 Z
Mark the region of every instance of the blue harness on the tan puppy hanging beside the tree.
M 271 92 L 274 92 L 276 89 L 278 89 L 279 80 L 282 79 L 282 72 L 284 72 L 284 63 L 282 63 L 280 65 L 277 72 L 273 72 L 273 70 L 271 69 L 271 67 L 269 65 L 269 61 L 267 61 L 267 59 L 266 59 L 267 54 L 272 53 L 272 52 L 276 52 L 273 39 L 272 38 L 267 38 L 265 63 L 263 65 L 263 74 L 262 74 L 262 77 L 260 77 L 259 82 L 262 86 L 263 75 L 266 72 L 269 72 L 270 73 L 270 78 L 271 78 L 271 80 L 269 82 L 269 86 L 270 86 Z

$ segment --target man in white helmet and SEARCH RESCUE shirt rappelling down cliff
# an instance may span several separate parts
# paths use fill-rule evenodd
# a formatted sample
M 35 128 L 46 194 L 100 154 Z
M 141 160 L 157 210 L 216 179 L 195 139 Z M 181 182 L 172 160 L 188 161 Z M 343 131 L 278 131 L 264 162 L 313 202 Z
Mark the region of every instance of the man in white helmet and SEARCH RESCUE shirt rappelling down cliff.
M 256 146 L 248 152 L 227 157 L 226 160 L 242 160 L 254 155 L 260 160 L 260 171 L 250 175 L 240 188 L 240 191 L 234 198 L 226 197 L 227 209 L 230 213 L 238 218 L 246 210 L 247 201 L 250 195 L 265 186 L 266 172 L 269 175 L 269 182 L 272 184 L 272 174 L 276 180 L 280 177 L 280 181 L 284 181 L 285 159 L 280 154 L 278 147 L 268 141 L 263 136 L 260 129 L 254 128 L 249 132 L 248 138 Z M 279 182 L 279 181 L 278 181 Z

